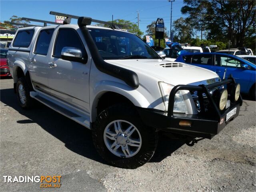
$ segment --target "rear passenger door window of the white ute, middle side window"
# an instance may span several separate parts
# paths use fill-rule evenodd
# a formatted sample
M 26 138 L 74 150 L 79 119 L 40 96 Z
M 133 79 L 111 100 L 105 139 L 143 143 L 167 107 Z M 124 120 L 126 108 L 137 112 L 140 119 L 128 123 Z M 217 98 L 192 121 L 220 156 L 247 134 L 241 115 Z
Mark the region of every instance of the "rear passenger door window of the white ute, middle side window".
M 36 42 L 34 54 L 47 55 L 54 29 L 42 30 Z

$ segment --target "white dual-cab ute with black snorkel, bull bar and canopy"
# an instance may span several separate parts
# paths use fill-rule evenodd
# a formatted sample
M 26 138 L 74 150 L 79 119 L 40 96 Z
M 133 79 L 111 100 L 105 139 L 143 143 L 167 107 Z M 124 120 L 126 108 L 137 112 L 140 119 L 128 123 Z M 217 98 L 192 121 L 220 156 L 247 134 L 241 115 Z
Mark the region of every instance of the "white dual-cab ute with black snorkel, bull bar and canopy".
M 136 35 L 90 23 L 17 30 L 7 58 L 22 108 L 38 100 L 91 129 L 100 156 L 122 168 L 148 162 L 159 131 L 210 139 L 238 116 L 232 77 L 164 60 Z

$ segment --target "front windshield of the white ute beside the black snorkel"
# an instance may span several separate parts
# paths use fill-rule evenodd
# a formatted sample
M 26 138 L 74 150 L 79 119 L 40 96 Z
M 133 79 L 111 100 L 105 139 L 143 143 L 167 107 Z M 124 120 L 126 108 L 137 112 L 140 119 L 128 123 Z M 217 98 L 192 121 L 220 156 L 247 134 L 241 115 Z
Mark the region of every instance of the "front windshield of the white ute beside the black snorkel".
M 104 60 L 162 59 L 134 34 L 94 28 L 90 28 L 89 32 Z

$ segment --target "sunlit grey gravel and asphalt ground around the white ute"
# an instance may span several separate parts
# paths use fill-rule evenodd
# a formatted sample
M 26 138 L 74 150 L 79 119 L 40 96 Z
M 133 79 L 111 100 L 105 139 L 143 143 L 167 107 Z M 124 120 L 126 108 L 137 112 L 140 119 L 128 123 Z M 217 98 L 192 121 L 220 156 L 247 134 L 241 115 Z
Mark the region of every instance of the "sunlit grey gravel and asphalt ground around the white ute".
M 46 106 L 22 110 L 12 79 L 1 79 L 0 190 L 52 191 L 3 176 L 61 175 L 59 191 L 256 191 L 255 101 L 212 140 L 193 147 L 160 136 L 156 154 L 127 170 L 107 165 L 90 130 Z

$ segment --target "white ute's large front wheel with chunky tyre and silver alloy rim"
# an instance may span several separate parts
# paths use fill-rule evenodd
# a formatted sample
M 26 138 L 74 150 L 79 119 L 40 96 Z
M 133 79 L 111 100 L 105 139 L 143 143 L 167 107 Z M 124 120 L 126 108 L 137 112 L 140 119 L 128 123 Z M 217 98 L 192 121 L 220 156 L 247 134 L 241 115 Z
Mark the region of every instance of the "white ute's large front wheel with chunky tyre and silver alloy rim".
M 96 150 L 108 163 L 135 169 L 154 155 L 158 133 L 142 123 L 132 106 L 117 104 L 98 115 L 92 138 Z

